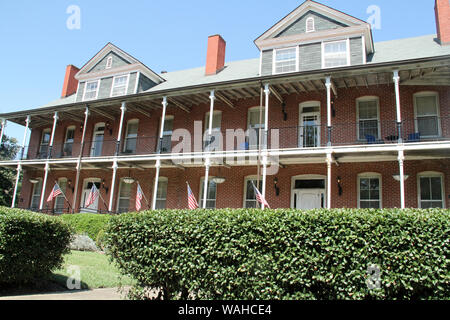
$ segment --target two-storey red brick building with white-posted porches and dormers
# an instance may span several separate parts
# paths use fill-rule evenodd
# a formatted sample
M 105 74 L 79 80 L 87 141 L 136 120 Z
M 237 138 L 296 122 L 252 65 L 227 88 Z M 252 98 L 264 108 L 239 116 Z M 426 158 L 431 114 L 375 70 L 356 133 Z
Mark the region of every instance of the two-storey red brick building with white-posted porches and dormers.
M 225 63 L 215 35 L 205 67 L 161 74 L 108 43 L 67 67 L 60 99 L 0 115 L 2 134 L 31 129 L 1 162 L 23 172 L 17 206 L 130 211 L 139 184 L 144 209 L 186 208 L 189 182 L 202 207 L 255 207 L 253 181 L 272 208 L 447 207 L 449 1 L 435 12 L 437 35 L 374 43 L 306 1 L 255 40 L 259 58 Z M 67 201 L 47 202 L 55 182 Z

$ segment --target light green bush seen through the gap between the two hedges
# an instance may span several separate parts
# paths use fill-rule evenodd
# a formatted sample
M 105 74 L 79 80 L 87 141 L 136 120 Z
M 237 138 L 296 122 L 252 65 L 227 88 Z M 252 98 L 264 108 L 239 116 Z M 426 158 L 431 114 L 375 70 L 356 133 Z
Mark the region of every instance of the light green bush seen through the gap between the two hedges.
M 71 225 L 77 234 L 88 235 L 92 240 L 96 240 L 98 233 L 105 229 L 106 224 L 111 219 L 110 215 L 104 214 L 65 214 L 60 218 Z

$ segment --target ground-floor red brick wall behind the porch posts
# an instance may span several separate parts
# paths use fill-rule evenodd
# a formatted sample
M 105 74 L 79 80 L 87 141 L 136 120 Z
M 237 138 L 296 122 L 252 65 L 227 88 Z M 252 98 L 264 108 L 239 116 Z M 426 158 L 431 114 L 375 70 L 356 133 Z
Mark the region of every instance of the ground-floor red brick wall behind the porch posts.
M 445 199 L 447 206 L 450 206 L 448 196 L 450 195 L 450 160 L 427 160 L 427 161 L 405 161 L 405 174 L 409 175 L 409 179 L 405 182 L 406 206 L 418 207 L 417 198 L 417 174 L 424 171 L 437 171 L 444 174 L 445 185 Z M 367 163 L 342 163 L 339 166 L 333 165 L 331 178 L 331 193 L 333 207 L 348 207 L 355 208 L 358 206 L 358 174 L 365 172 L 375 172 L 381 174 L 382 183 L 382 205 L 385 208 L 400 207 L 400 184 L 393 179 L 394 174 L 398 174 L 398 162 L 367 162 Z M 216 205 L 218 208 L 241 208 L 243 206 L 244 197 L 244 180 L 245 177 L 256 175 L 256 167 L 233 167 L 226 168 L 211 168 L 211 176 L 224 176 L 225 183 L 217 186 Z M 187 207 L 187 191 L 186 182 L 189 182 L 191 189 L 200 203 L 200 179 L 204 176 L 204 168 L 188 168 L 181 169 L 161 169 L 160 176 L 166 177 L 169 180 L 167 190 L 167 207 L 168 208 L 186 208 Z M 119 192 L 119 181 L 123 177 L 130 175 L 128 169 L 119 169 L 116 180 L 114 208 L 117 204 L 117 195 Z M 146 170 L 132 170 L 132 177 L 137 179 L 143 189 L 144 194 L 151 203 L 152 190 L 154 183 L 154 169 Z M 280 169 L 276 175 L 278 178 L 278 187 L 280 188 L 280 195 L 275 195 L 275 188 L 273 179 L 274 176 L 267 177 L 266 198 L 272 208 L 289 208 L 291 206 L 291 181 L 292 177 L 297 175 L 322 175 L 326 177 L 326 164 L 307 164 L 307 165 L 292 165 L 287 168 Z M 342 178 L 342 196 L 338 194 L 337 177 Z M 42 172 L 26 172 L 24 181 L 28 181 L 30 177 L 43 177 Z M 48 184 L 46 188 L 46 196 L 48 197 L 54 185 L 54 181 L 58 178 L 65 177 L 72 181 L 72 186 L 75 184 L 74 171 L 51 171 L 48 176 Z M 112 170 L 83 170 L 80 175 L 80 184 L 78 188 L 78 202 L 80 203 L 80 195 L 83 188 L 83 180 L 86 178 L 100 178 L 105 180 L 105 186 L 111 191 Z M 110 193 L 106 193 L 105 189 L 101 189 L 101 194 L 107 204 L 109 204 Z M 134 210 L 135 206 L 136 185 L 133 185 L 130 210 Z M 67 191 L 67 197 L 72 203 L 73 194 L 71 190 Z M 31 199 L 31 184 L 24 183 L 22 193 L 20 196 L 19 206 L 27 208 Z M 79 205 L 78 203 L 78 205 Z M 48 204 L 45 203 L 46 207 Z M 49 205 L 52 207 L 52 205 Z M 144 201 L 144 208 L 146 204 Z M 101 201 L 99 201 L 99 209 L 107 210 Z

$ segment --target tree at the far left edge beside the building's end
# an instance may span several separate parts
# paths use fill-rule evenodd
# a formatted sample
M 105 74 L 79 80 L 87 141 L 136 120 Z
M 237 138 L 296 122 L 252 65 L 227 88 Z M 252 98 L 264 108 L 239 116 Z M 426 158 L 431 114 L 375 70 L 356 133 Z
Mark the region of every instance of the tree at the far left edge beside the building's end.
M 19 150 L 17 140 L 4 135 L 0 146 L 0 160 L 14 160 Z M 0 167 L 0 206 L 11 205 L 16 173 L 15 169 Z M 20 185 L 18 190 L 20 190 Z

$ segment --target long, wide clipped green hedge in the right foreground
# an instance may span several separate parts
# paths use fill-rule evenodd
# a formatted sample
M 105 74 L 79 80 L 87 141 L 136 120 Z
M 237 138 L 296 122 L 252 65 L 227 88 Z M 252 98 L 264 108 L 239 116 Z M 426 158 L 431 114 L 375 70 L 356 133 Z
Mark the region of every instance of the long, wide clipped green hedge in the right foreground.
M 134 298 L 163 288 L 165 299 L 448 299 L 449 218 L 448 210 L 155 211 L 113 217 L 106 239 L 138 282 Z M 380 288 L 367 285 L 370 265 Z

